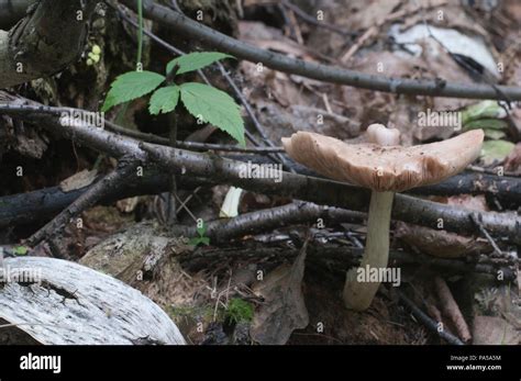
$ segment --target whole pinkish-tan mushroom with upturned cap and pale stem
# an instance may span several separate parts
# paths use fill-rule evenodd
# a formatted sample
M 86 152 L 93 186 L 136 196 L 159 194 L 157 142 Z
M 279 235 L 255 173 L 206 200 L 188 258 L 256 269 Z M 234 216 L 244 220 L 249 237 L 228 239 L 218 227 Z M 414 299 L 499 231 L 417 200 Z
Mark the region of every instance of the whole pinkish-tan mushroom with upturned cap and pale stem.
M 474 130 L 443 142 L 402 147 L 398 145 L 398 130 L 372 124 L 367 137 L 370 143 L 346 144 L 298 132 L 282 138 L 282 144 L 293 160 L 318 173 L 372 190 L 366 246 L 358 269 L 381 269 L 387 267 L 395 192 L 434 184 L 464 170 L 479 156 L 484 132 Z M 348 309 L 364 311 L 380 282 L 358 281 L 358 269 L 347 271 L 344 303 Z

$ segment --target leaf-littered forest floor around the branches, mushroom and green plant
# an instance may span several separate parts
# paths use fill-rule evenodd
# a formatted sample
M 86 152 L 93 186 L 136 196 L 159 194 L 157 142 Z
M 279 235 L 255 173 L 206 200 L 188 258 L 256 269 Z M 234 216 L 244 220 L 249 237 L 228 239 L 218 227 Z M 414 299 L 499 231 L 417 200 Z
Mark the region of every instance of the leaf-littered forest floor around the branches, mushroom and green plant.
M 289 57 L 386 77 L 521 86 L 521 4 L 514 0 L 497 5 L 424 0 L 178 3 L 190 18 L 202 10 L 209 26 Z M 137 20 L 131 10 L 123 12 Z M 92 25 L 80 61 L 59 76 L 33 80 L 12 92 L 48 105 L 98 110 L 111 81 L 134 67 L 136 29 L 112 8 Z M 213 49 L 152 21 L 145 22 L 145 29 L 182 51 Z M 101 60 L 87 65 L 95 45 L 101 48 Z M 149 37 L 144 40 L 144 56 L 147 70 L 157 72 L 174 58 Z M 455 132 L 443 122 L 421 123 L 422 113 L 462 111 L 470 115 L 462 131 L 484 127 L 486 133 L 479 159 L 465 172 L 474 188 L 458 191 L 454 186 L 418 197 L 506 218 L 514 218 L 520 211 L 521 108 L 516 102 L 399 96 L 259 69 L 259 64 L 243 59 L 223 65 L 258 119 L 252 119 L 243 103 L 246 128 L 260 145 L 280 146 L 282 137 L 298 131 L 356 144 L 364 141 L 372 123 L 398 128 L 404 146 L 426 144 Z M 213 86 L 240 101 L 217 66 L 204 74 Z M 197 74 L 186 78 L 200 81 Z M 198 125 L 186 110 L 178 110 L 179 141 L 231 144 L 223 132 Z M 163 137 L 168 137 L 171 122 L 167 115 L 151 116 L 143 99 L 111 110 L 107 119 L 130 131 Z M 0 245 L 27 255 L 20 249 L 25 247 L 24 239 L 74 200 L 65 201 L 67 194 L 79 195 L 115 168 L 117 160 L 74 139 L 57 138 L 37 123 L 7 115 L 0 115 L 0 136 L 9 142 L 0 143 L 0 205 L 9 197 L 42 191 L 35 198 L 47 194 L 46 202 L 58 205 L 42 210 L 27 198 L 22 203 L 29 217 L 9 225 L 0 213 Z M 280 154 L 222 155 L 287 164 Z M 285 169 L 302 170 L 295 163 L 291 166 Z M 13 170 L 19 167 L 23 177 Z M 137 190 L 132 197 L 90 208 L 81 213 L 79 225 L 75 220 L 59 232 L 53 247 L 48 242 L 27 246 L 29 255 L 78 261 L 123 280 L 159 304 L 190 344 L 445 344 L 440 329 L 461 343 L 521 344 L 519 242 L 507 234 L 484 233 L 479 224 L 468 234 L 392 221 L 390 264 L 401 269 L 400 284 L 383 284 L 372 306 L 357 313 L 344 307 L 342 290 L 345 271 L 357 262 L 365 245 L 365 213 L 325 224 L 315 217 L 296 223 L 281 218 L 277 226 L 263 228 L 263 211 L 284 208 L 298 198 L 243 190 L 239 215 L 254 213 L 258 226 L 251 233 L 236 226 L 217 231 L 209 245 L 193 246 L 188 244 L 193 236 L 181 239 L 170 229 L 169 180 L 162 178 L 160 170 L 155 169 L 153 176 L 160 178 L 151 186 L 160 188 L 160 194 Z M 177 183 L 177 224 L 224 220 L 222 208 L 230 186 L 191 180 Z M 488 188 L 479 187 L 487 181 L 491 181 Z M 498 190 L 501 181 L 508 182 L 511 193 Z M 154 264 L 146 267 L 151 258 Z M 144 276 L 136 278 L 137 272 Z

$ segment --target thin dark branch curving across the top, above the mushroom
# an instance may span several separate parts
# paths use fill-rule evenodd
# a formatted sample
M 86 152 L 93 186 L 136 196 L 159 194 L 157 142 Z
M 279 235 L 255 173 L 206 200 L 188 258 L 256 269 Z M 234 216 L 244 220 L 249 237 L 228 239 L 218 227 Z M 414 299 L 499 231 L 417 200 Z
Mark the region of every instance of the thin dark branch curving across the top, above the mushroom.
M 136 10 L 134 0 L 121 0 L 121 2 Z M 368 90 L 431 97 L 501 99 L 498 93 L 499 90 L 510 100 L 521 100 L 521 88 L 519 87 L 498 86 L 495 89 L 491 86 L 448 83 L 445 80 L 420 81 L 406 78 L 387 78 L 309 63 L 237 41 L 152 0 L 143 0 L 143 8 L 146 18 L 188 35 L 190 38 L 201 40 L 218 51 L 233 54 L 239 58 L 253 63 L 263 63 L 273 69 L 302 77 Z

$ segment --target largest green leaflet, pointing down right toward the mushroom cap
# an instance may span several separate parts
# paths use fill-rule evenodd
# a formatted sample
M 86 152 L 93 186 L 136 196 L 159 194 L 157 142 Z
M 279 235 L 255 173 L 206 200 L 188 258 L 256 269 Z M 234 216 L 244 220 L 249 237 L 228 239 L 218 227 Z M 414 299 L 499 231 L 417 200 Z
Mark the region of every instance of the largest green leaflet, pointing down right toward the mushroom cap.
M 232 97 L 202 83 L 188 82 L 180 88 L 181 101 L 193 116 L 229 133 L 242 146 L 246 145 L 241 108 Z

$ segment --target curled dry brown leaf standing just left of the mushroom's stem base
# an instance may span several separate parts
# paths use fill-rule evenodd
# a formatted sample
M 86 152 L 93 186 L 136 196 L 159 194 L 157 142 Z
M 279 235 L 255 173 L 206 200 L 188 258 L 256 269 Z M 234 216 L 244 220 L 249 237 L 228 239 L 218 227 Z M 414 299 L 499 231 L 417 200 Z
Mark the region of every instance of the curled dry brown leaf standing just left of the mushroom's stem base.
M 284 345 L 293 329 L 309 324 L 302 294 L 306 246 L 291 266 L 285 264 L 277 267 L 252 288 L 256 295 L 264 299 L 250 330 L 252 338 L 262 345 Z

